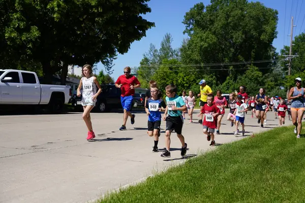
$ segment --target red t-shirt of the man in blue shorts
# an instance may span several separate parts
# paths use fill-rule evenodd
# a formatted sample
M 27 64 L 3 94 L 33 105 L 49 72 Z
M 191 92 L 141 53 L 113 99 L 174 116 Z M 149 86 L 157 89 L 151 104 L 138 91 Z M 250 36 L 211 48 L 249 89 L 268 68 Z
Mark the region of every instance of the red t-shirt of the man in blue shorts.
M 126 78 L 125 75 L 121 75 L 116 80 L 115 84 L 122 84 L 121 96 L 130 96 L 135 94 L 135 89 L 130 89 L 130 85 L 138 85 L 140 82 L 135 76 L 130 75 Z

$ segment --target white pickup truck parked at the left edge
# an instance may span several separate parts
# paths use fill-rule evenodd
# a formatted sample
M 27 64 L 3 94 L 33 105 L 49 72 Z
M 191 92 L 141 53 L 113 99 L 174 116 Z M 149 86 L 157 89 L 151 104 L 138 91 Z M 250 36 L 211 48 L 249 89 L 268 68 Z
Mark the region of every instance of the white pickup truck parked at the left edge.
M 70 86 L 42 85 L 35 72 L 0 70 L 0 105 L 47 105 L 60 113 L 70 97 Z

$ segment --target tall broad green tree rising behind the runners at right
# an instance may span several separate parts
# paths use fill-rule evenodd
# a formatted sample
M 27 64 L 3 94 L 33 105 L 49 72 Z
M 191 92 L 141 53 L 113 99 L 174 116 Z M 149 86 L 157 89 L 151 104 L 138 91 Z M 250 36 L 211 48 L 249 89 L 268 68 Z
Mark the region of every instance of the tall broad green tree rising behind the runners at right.
M 211 0 L 196 4 L 186 13 L 184 33 L 190 40 L 181 47 L 186 64 L 227 63 L 272 59 L 272 42 L 277 37 L 278 12 L 247 0 Z M 255 64 L 266 67 L 270 62 Z M 223 83 L 229 65 L 204 66 Z M 245 64 L 234 65 L 235 77 L 246 72 Z M 199 69 L 203 69 L 199 67 Z M 267 73 L 266 70 L 260 70 Z

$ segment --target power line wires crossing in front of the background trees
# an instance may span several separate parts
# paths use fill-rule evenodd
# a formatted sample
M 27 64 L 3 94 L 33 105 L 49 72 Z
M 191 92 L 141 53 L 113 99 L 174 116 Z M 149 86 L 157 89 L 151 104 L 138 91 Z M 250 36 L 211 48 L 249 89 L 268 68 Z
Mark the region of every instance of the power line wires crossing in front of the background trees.
M 219 65 L 240 65 L 240 64 L 252 64 L 252 63 L 266 63 L 284 61 L 284 59 L 268 59 L 268 60 L 257 60 L 257 61 L 243 61 L 243 62 L 227 62 L 227 63 L 196 63 L 196 64 L 149 64 L 140 65 L 141 67 L 158 67 L 158 66 L 219 66 Z

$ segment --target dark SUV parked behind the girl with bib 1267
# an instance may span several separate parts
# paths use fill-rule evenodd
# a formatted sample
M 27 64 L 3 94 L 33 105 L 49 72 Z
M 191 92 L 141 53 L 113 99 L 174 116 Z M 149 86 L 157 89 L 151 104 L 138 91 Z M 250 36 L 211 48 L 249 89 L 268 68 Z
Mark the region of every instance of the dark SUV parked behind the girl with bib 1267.
M 120 94 L 121 90 L 115 85 L 101 85 L 102 93 L 97 98 L 97 103 L 94 108 L 97 112 L 106 112 L 112 108 L 121 108 Z M 73 96 L 72 105 L 81 107 L 81 96 Z

